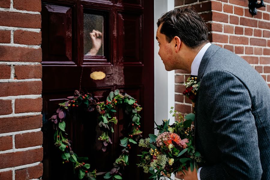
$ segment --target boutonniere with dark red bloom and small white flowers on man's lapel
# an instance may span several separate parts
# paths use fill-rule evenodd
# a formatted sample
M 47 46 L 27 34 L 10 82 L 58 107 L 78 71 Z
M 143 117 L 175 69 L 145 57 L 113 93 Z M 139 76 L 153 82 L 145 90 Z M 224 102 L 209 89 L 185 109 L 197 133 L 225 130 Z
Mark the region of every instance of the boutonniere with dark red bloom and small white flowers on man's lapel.
M 194 113 L 196 95 L 199 91 L 201 82 L 197 82 L 197 77 L 189 77 L 185 82 L 186 90 L 183 92 L 183 95 L 187 96 L 188 99 L 192 101 L 192 112 Z

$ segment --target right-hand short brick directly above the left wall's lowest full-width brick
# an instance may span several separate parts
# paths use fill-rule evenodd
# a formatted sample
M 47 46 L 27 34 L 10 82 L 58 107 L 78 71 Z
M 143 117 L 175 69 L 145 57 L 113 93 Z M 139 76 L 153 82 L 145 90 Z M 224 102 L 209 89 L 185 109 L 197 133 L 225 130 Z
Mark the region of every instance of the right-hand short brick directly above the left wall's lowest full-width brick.
M 43 143 L 42 131 L 15 135 L 15 148 L 40 146 Z

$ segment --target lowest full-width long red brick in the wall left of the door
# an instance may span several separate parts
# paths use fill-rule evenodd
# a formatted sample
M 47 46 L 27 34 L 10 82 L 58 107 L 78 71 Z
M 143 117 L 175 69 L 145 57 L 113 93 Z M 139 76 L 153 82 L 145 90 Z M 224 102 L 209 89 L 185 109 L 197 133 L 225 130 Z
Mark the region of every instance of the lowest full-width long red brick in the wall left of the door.
M 24 164 L 32 164 L 42 161 L 43 148 L 0 154 L 0 159 L 0 169 L 21 166 Z

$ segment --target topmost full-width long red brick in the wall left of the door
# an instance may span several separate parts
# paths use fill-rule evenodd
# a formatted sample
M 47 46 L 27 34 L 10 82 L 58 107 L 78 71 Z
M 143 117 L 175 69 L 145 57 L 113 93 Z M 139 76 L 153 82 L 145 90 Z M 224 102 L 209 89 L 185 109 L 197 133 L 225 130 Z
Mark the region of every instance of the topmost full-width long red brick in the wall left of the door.
M 0 11 L 0 26 L 41 28 L 41 15 Z

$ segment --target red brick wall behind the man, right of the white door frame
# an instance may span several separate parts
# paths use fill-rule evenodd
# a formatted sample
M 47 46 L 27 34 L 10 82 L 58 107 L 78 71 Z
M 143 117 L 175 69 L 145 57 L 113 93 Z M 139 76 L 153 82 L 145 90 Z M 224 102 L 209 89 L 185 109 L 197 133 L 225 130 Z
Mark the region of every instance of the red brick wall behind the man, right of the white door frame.
M 259 2 L 259 1 L 258 1 Z M 209 40 L 238 54 L 254 67 L 270 87 L 270 0 L 252 16 L 248 0 L 175 0 L 175 7 L 192 6 L 204 18 Z M 191 112 L 191 101 L 182 95 L 190 74 L 176 70 L 176 110 Z

